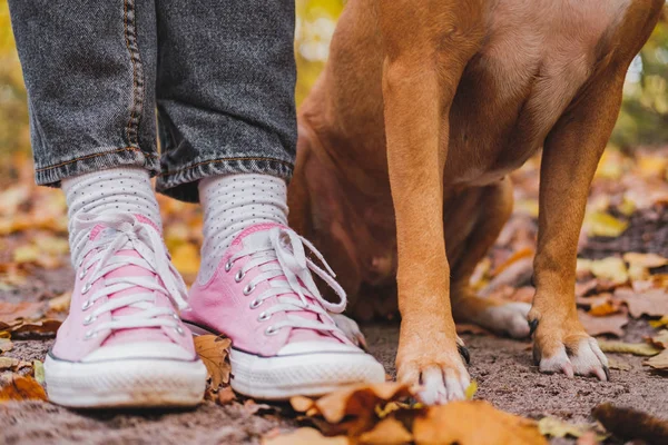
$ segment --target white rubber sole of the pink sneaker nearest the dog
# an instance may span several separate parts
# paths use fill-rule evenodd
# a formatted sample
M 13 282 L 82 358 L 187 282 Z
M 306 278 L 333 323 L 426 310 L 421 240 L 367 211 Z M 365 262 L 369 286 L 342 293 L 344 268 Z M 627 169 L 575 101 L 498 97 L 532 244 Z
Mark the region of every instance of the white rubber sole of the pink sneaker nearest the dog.
M 188 324 L 193 335 L 214 334 Z M 230 348 L 230 386 L 253 398 L 285 400 L 321 396 L 357 384 L 385 382 L 385 369 L 376 359 L 360 353 L 308 353 L 262 357 Z

